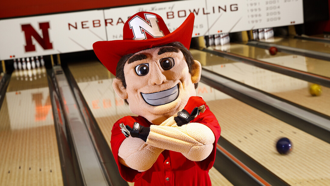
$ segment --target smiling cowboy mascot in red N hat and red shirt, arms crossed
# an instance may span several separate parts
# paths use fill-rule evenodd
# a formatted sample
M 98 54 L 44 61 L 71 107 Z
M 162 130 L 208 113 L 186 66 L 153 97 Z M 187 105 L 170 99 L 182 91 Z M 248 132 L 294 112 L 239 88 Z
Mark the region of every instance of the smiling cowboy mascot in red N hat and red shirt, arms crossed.
M 211 185 L 220 126 L 195 87 L 201 64 L 189 52 L 194 14 L 170 33 L 163 19 L 139 12 L 123 40 L 98 41 L 94 52 L 116 78 L 113 88 L 132 113 L 113 126 L 120 175 L 136 185 Z

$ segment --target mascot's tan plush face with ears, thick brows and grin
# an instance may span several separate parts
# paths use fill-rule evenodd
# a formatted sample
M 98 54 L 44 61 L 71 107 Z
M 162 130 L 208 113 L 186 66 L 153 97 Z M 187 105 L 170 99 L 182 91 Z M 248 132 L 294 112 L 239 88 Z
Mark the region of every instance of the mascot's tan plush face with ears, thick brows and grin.
M 192 72 L 182 52 L 175 47 L 155 47 L 135 53 L 124 66 L 126 89 L 114 80 L 116 93 L 127 99 L 132 113 L 160 124 L 174 116 L 196 96 L 194 83 L 201 65 L 194 61 Z

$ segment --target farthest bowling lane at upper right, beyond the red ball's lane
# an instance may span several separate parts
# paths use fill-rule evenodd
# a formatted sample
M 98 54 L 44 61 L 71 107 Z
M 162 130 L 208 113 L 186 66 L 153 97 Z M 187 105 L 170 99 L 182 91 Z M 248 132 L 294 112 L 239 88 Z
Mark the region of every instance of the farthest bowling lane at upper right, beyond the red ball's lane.
M 330 43 L 310 41 L 305 39 L 295 39 L 289 37 L 274 37 L 270 39 L 261 39 L 266 43 L 273 43 L 282 46 L 295 47 L 300 49 L 312 50 L 317 52 L 330 53 Z

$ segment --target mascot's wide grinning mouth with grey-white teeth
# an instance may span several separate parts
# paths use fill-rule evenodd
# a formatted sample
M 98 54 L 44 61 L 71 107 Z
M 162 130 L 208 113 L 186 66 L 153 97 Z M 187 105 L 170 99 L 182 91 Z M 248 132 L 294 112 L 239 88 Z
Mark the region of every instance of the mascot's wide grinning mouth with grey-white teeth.
M 175 87 L 163 90 L 160 92 L 154 92 L 144 94 L 141 92 L 143 100 L 151 106 L 165 105 L 176 100 L 179 96 L 179 84 Z

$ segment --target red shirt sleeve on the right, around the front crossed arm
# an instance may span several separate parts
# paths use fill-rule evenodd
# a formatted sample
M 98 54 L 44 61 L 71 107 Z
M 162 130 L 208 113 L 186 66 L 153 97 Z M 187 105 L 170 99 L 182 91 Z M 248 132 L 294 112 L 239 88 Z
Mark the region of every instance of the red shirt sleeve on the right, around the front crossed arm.
M 201 113 L 197 116 L 193 121 L 196 123 L 201 123 L 208 126 L 215 136 L 215 142 L 213 144 L 213 150 L 211 154 L 205 159 L 200 162 L 195 162 L 197 166 L 199 166 L 202 170 L 210 170 L 215 161 L 215 153 L 216 153 L 216 143 L 220 137 L 221 128 L 219 125 L 218 120 L 214 116 L 214 114 L 210 111 L 209 107 L 207 106 L 204 113 Z

